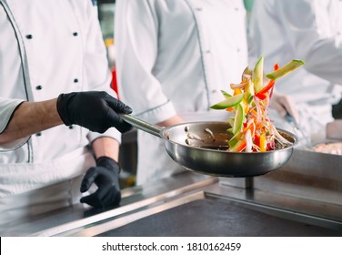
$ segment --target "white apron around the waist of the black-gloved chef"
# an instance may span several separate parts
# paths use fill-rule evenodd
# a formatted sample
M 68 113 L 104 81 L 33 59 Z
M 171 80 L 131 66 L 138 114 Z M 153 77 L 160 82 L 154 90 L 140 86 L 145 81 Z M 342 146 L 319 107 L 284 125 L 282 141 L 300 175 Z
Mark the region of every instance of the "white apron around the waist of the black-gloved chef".
M 86 148 L 55 162 L 1 165 L 0 233 L 1 228 L 17 225 L 19 219 L 79 203 L 84 171 L 94 165 Z M 11 179 L 10 184 L 6 179 Z

